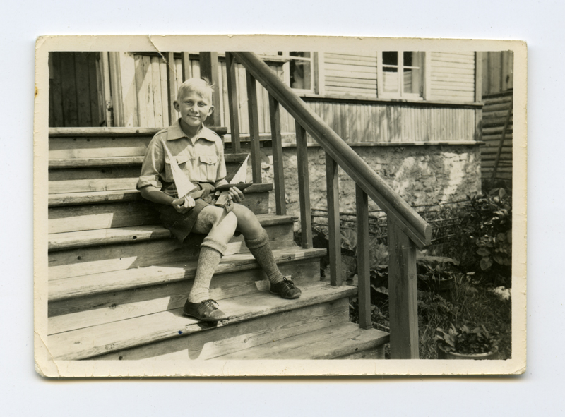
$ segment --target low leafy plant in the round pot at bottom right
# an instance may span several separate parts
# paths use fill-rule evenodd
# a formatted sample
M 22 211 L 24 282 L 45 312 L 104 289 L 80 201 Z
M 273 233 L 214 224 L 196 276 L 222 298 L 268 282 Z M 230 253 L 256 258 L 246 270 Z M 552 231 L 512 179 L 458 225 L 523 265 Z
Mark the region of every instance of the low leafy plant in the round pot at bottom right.
M 436 329 L 436 340 L 446 352 L 463 353 L 472 355 L 489 353 L 496 349 L 494 334 L 487 331 L 484 325 L 470 330 L 467 325 L 451 327 L 444 331 L 441 327 Z

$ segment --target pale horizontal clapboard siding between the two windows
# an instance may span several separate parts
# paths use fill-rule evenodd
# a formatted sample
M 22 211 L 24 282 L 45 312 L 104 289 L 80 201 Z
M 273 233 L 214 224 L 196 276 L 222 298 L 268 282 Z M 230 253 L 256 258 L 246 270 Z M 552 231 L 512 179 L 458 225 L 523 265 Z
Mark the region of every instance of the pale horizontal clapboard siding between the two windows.
M 366 55 L 324 52 L 323 84 L 326 95 L 376 98 L 376 52 Z

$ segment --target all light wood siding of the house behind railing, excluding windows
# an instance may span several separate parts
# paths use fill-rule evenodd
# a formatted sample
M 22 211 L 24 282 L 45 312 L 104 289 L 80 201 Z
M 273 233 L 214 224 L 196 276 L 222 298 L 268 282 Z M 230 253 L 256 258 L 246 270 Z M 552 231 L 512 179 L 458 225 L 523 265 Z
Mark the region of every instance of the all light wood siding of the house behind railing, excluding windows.
M 434 142 L 473 140 L 475 113 L 471 108 L 428 105 L 419 103 L 379 102 L 376 91 L 376 52 L 367 55 L 345 53 L 319 54 L 321 65 L 321 90 L 319 97 L 305 97 L 308 105 L 332 128 L 351 143 Z M 427 99 L 473 102 L 475 87 L 474 54 L 432 52 L 432 97 Z M 121 97 L 121 110 L 114 109 L 117 126 L 164 127 L 169 126 L 169 95 L 167 92 L 167 63 L 160 56 L 112 52 L 111 68 L 119 73 L 119 83 L 113 85 Z M 270 62 L 270 68 L 281 79 L 285 78 L 282 62 Z M 220 112 L 222 126 L 229 129 L 227 106 L 226 68 L 223 57 L 219 63 L 221 76 L 218 82 L 220 102 L 215 111 Z M 180 54 L 174 58 L 174 90 L 182 83 Z M 355 71 L 354 71 L 355 70 Z M 196 52 L 190 54 L 189 76 L 200 76 Z M 246 97 L 245 70 L 239 64 L 236 70 L 239 92 L 239 130 L 249 133 L 249 115 Z M 115 83 L 116 80 L 112 83 Z M 259 131 L 270 133 L 268 93 L 257 86 Z M 357 97 L 334 99 L 329 97 Z M 326 97 L 328 96 L 328 97 Z M 360 98 L 360 99 L 359 99 Z M 374 100 L 374 101 L 371 101 Z M 114 107 L 117 103 L 114 103 Z M 281 109 L 280 123 L 283 133 L 295 133 L 295 122 L 287 111 Z M 229 133 L 229 131 L 228 131 Z M 228 137 L 229 140 L 229 137 Z

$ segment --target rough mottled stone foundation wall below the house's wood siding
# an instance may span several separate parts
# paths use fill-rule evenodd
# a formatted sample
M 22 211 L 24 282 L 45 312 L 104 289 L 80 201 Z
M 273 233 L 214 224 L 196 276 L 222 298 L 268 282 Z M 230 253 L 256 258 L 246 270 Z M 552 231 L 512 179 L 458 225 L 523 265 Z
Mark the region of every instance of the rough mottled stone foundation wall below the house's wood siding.
M 480 147 L 463 145 L 402 145 L 353 147 L 410 205 L 435 205 L 465 200 L 479 193 Z M 273 158 L 263 147 L 263 182 L 273 182 Z M 283 148 L 287 212 L 299 216 L 296 147 Z M 308 148 L 311 207 L 326 209 L 326 156 L 319 146 Z M 340 212 L 355 212 L 355 183 L 340 169 Z M 274 192 L 270 202 L 274 212 Z M 379 207 L 369 198 L 369 210 Z

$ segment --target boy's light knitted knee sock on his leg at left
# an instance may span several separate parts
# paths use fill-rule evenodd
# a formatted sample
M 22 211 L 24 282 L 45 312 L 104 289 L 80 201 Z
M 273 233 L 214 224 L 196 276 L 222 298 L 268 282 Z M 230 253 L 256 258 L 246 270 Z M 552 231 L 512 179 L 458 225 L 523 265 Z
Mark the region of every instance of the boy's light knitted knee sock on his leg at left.
M 200 256 L 198 256 L 196 277 L 194 277 L 194 284 L 192 284 L 189 294 L 189 302 L 201 303 L 210 298 L 210 282 L 222 256 L 225 255 L 226 248 L 225 243 L 217 241 L 215 238 L 204 238 Z

